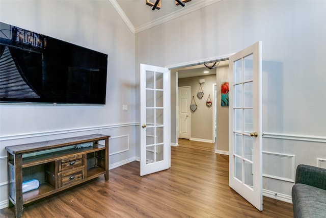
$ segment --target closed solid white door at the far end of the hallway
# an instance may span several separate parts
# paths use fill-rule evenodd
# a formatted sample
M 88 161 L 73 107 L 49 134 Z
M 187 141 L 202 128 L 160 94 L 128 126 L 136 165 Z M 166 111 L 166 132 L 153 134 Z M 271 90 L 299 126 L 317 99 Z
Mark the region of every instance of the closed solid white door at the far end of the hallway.
M 190 86 L 179 87 L 178 89 L 178 137 L 189 139 L 189 101 Z

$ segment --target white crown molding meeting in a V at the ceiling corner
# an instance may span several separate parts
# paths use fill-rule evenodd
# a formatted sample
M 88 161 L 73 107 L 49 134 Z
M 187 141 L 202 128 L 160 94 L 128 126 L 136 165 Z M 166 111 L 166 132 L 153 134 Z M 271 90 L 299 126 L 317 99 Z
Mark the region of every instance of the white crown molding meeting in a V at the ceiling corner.
M 193 11 L 196 11 L 198 9 L 204 8 L 206 6 L 209 6 L 211 4 L 214 4 L 216 2 L 220 2 L 222 0 L 201 0 L 198 1 L 192 5 L 186 6 L 184 8 L 182 8 L 182 10 L 178 10 L 176 12 L 173 12 L 171 14 L 168 14 L 166 16 L 160 17 L 158 19 L 152 20 L 148 23 L 145 23 L 144 25 L 140 26 L 140 27 L 133 27 L 132 23 L 130 22 L 130 20 L 128 19 L 127 15 L 123 12 L 123 10 L 121 9 L 121 7 L 119 6 L 119 4 L 117 3 L 116 0 L 110 0 L 110 2 L 112 3 L 113 7 L 117 10 L 117 12 L 119 13 L 119 15 L 121 16 L 121 18 L 124 20 L 124 22 L 126 23 L 126 25 L 128 26 L 128 28 L 130 29 L 130 31 L 132 33 L 139 33 L 142 32 L 144 30 L 150 29 L 152 27 L 155 27 L 157 25 L 160 25 L 162 23 L 168 22 L 170 20 L 173 20 L 177 17 L 183 16 L 185 14 L 191 13 Z

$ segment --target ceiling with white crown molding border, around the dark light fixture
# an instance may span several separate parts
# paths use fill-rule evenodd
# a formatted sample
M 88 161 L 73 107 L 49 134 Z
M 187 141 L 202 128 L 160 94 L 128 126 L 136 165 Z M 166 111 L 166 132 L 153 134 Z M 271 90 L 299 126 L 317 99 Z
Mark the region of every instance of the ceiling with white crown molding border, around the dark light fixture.
M 146 0 L 111 0 L 111 3 L 129 29 L 138 33 L 219 1 L 221 0 L 193 0 L 182 7 L 177 6 L 175 0 L 161 0 L 161 8 L 154 11 L 146 5 Z M 150 2 L 155 3 L 155 0 Z

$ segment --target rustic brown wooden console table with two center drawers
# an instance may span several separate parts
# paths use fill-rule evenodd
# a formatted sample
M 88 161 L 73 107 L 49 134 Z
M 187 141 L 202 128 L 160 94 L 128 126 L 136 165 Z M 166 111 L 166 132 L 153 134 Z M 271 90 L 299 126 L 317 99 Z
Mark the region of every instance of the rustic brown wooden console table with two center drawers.
M 100 175 L 107 181 L 108 138 L 93 134 L 6 147 L 8 207 L 14 209 L 16 217 L 21 217 L 24 204 Z M 75 148 L 85 143 L 92 146 Z M 22 182 L 31 179 L 39 181 L 39 188 L 22 193 Z

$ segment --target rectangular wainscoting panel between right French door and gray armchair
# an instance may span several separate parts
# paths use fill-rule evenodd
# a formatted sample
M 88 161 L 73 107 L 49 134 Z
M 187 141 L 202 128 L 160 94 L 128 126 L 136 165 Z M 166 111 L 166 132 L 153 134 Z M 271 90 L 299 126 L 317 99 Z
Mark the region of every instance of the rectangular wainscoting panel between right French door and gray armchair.
M 295 156 L 273 152 L 263 152 L 263 177 L 295 181 Z

